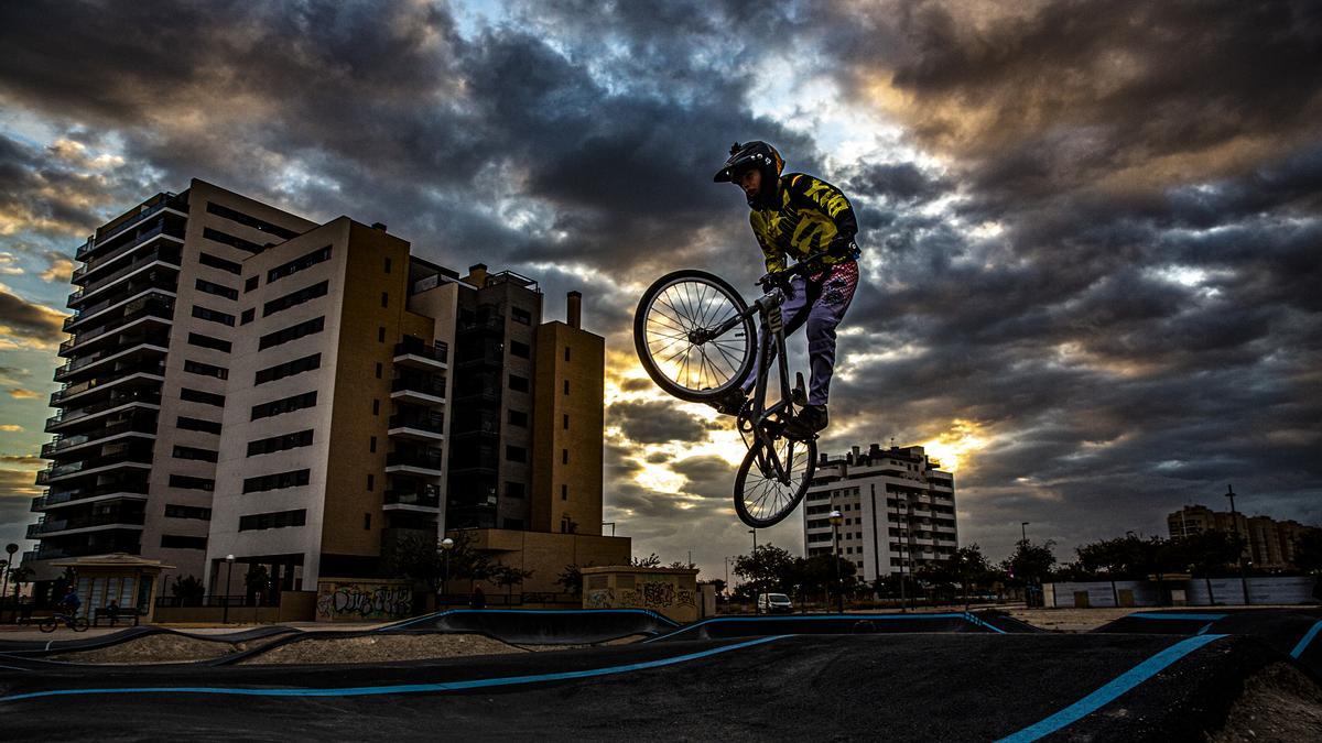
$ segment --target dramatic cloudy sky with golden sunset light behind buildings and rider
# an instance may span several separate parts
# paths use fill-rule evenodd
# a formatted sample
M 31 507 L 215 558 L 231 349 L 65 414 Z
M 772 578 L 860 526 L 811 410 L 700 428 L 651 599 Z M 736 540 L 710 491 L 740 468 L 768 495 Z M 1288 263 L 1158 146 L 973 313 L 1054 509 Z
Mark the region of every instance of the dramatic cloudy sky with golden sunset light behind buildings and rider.
M 928 444 L 993 558 L 1021 521 L 1062 554 L 1161 533 L 1228 483 L 1322 521 L 1315 3 L 59 0 L 4 4 L 0 41 L 5 541 L 74 247 L 200 177 L 537 276 L 551 317 L 583 290 L 607 518 L 719 575 L 748 546 L 738 448 L 645 381 L 628 323 L 666 270 L 751 290 L 747 208 L 711 182 L 747 139 L 862 225 L 825 451 Z

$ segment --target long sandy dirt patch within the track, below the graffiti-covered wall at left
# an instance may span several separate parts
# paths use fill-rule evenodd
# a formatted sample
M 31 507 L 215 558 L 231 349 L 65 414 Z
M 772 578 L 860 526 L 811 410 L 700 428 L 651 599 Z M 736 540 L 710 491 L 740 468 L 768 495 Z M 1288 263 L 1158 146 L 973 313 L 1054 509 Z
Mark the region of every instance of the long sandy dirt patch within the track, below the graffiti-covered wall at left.
M 239 662 L 243 665 L 353 664 L 525 652 L 527 650 L 483 635 L 369 635 L 362 637 L 312 637 L 280 645 Z

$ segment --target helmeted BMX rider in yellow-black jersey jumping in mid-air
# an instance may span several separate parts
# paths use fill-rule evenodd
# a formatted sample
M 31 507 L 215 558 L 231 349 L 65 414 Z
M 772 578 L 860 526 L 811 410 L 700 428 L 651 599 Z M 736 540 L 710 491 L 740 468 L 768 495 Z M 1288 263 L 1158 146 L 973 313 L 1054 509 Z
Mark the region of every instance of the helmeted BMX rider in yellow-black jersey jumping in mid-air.
M 764 141 L 735 143 L 730 159 L 717 172 L 715 182 L 732 182 L 743 189 L 752 210 L 748 221 L 767 264 L 758 280 L 763 288 L 785 270 L 787 256 L 802 260 L 825 253 L 821 267 L 806 276 L 796 275 L 785 288 L 781 313 L 785 334 L 808 325 L 808 362 L 812 377 L 808 406 L 791 420 L 785 434 L 806 438 L 826 427 L 826 399 L 836 368 L 836 327 L 845 317 L 858 286 L 858 221 L 841 190 L 806 173 L 781 173 L 785 161 Z M 738 414 L 752 391 L 758 369 L 714 403 L 717 410 Z

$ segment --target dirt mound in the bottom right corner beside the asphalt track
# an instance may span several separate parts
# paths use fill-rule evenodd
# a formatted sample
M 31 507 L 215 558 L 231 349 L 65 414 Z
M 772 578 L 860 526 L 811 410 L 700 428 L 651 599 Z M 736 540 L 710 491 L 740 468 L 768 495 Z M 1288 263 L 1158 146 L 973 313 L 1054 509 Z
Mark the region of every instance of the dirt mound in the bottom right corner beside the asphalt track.
M 1208 740 L 1322 740 L 1322 687 L 1289 664 L 1273 664 L 1244 682 L 1225 726 Z

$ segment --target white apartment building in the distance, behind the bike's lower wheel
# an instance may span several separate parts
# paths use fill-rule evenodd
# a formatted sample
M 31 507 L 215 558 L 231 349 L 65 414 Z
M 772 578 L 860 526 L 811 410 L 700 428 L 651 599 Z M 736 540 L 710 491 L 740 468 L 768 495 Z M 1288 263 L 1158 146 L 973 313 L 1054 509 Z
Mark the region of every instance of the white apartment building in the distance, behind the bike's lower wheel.
M 808 557 L 832 554 L 830 513 L 839 510 L 839 557 L 875 580 L 949 559 L 958 549 L 954 480 L 923 447 L 873 444 L 841 457 L 821 455 L 804 497 Z

